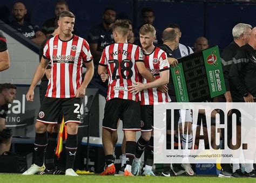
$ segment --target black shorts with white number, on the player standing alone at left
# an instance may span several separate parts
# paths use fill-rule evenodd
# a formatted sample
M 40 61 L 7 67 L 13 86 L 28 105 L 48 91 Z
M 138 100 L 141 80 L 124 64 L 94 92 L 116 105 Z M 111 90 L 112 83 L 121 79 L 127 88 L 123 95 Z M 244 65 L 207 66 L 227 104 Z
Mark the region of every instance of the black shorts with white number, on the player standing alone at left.
M 81 121 L 81 98 L 51 98 L 45 97 L 37 121 L 46 124 L 57 124 L 58 118 L 64 116 L 66 123 L 78 123 Z

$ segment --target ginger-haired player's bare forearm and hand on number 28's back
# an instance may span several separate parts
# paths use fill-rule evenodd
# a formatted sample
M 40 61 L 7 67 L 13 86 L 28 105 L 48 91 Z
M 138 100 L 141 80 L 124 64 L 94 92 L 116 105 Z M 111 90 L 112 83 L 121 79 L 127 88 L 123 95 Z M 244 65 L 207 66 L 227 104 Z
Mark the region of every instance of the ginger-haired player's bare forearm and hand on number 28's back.
M 157 80 L 154 80 L 146 84 L 140 82 L 133 83 L 133 86 L 129 87 L 129 91 L 137 94 L 139 93 L 139 91 L 142 91 L 143 89 L 156 88 L 159 86 L 166 85 L 167 83 L 169 83 L 169 74 L 170 72 L 168 68 L 167 70 L 160 72 L 160 78 L 158 78 Z

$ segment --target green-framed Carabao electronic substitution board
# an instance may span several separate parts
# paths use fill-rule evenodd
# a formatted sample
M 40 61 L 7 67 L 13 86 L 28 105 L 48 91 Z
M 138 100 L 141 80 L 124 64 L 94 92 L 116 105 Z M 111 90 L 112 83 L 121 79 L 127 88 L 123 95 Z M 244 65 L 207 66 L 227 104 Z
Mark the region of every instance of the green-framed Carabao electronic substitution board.
M 218 46 L 178 59 L 171 68 L 177 102 L 202 102 L 226 92 Z

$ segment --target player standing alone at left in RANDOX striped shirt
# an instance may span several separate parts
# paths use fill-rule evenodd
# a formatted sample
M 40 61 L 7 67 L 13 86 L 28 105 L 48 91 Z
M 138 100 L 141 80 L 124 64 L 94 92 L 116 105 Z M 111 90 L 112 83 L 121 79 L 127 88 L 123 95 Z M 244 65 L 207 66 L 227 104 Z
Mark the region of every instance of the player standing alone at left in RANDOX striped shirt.
M 77 151 L 77 130 L 80 123 L 81 98 L 93 76 L 92 55 L 89 44 L 83 38 L 72 34 L 75 16 L 70 11 L 60 13 L 59 35 L 49 39 L 44 47 L 43 58 L 38 65 L 26 99 L 33 101 L 33 90 L 42 79 L 45 69 L 51 61 L 51 76 L 45 98 L 41 104 L 36 121 L 35 164 L 24 175 L 36 174 L 45 169 L 44 150 L 47 146 L 47 126 L 57 124 L 60 111 L 63 112 L 67 126 L 66 171 L 65 175 L 77 176 L 73 163 Z M 87 72 L 82 82 L 83 62 Z

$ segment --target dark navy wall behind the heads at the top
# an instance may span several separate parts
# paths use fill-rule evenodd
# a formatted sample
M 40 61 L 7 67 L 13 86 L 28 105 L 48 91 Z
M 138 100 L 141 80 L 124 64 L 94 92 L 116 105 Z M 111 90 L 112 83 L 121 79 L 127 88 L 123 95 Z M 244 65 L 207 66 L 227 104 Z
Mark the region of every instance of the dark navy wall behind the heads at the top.
M 11 18 L 11 9 L 16 0 L 0 1 L 0 18 Z M 32 24 L 42 26 L 46 19 L 54 16 L 56 1 L 23 1 L 28 9 L 28 19 Z M 226 2 L 226 3 L 225 3 Z M 143 0 L 68 0 L 70 11 L 76 15 L 76 27 L 80 36 L 86 38 L 93 25 L 102 20 L 106 7 L 113 7 L 118 18 L 129 18 L 134 28 L 142 22 L 140 10 L 151 7 L 156 15 L 155 26 L 160 31 L 170 23 L 178 23 L 183 32 L 181 43 L 193 46 L 199 36 L 208 38 L 210 45 L 219 45 L 220 50 L 232 40 L 232 27 L 237 23 L 255 25 L 255 3 L 234 3 L 218 0 L 197 0 L 168 2 Z M 79 4 L 79 5 L 78 5 Z M 8 11 L 9 9 L 9 11 Z M 2 11 L 3 10 L 3 11 Z M 8 15 L 9 13 L 9 15 Z

